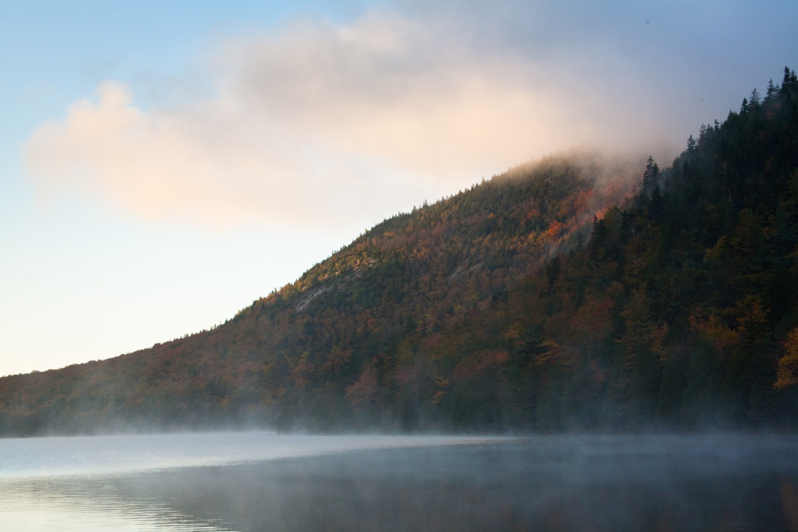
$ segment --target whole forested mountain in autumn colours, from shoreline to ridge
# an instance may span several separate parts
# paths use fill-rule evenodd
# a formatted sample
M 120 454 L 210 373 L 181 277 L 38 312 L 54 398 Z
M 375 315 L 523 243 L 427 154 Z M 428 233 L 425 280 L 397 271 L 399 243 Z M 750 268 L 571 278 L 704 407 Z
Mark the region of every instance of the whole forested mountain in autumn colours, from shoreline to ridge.
M 0 434 L 795 428 L 795 73 L 628 173 L 524 164 L 215 329 L 2 377 Z

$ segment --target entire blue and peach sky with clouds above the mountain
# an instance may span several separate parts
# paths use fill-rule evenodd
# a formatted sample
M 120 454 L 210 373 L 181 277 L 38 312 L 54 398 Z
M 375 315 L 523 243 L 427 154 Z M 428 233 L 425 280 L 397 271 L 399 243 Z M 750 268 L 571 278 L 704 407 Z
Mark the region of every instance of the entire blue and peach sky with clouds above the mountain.
M 0 375 L 209 329 L 527 160 L 666 167 L 798 67 L 796 21 L 774 0 L 6 2 Z

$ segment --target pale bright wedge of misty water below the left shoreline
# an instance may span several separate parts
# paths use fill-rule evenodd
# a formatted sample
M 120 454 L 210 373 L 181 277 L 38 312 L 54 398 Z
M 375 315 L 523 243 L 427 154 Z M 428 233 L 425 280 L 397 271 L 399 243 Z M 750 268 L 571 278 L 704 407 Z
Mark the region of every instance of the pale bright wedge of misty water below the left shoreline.
M 502 437 L 217 432 L 2 439 L 0 479 L 219 466 L 342 451 L 496 442 Z

